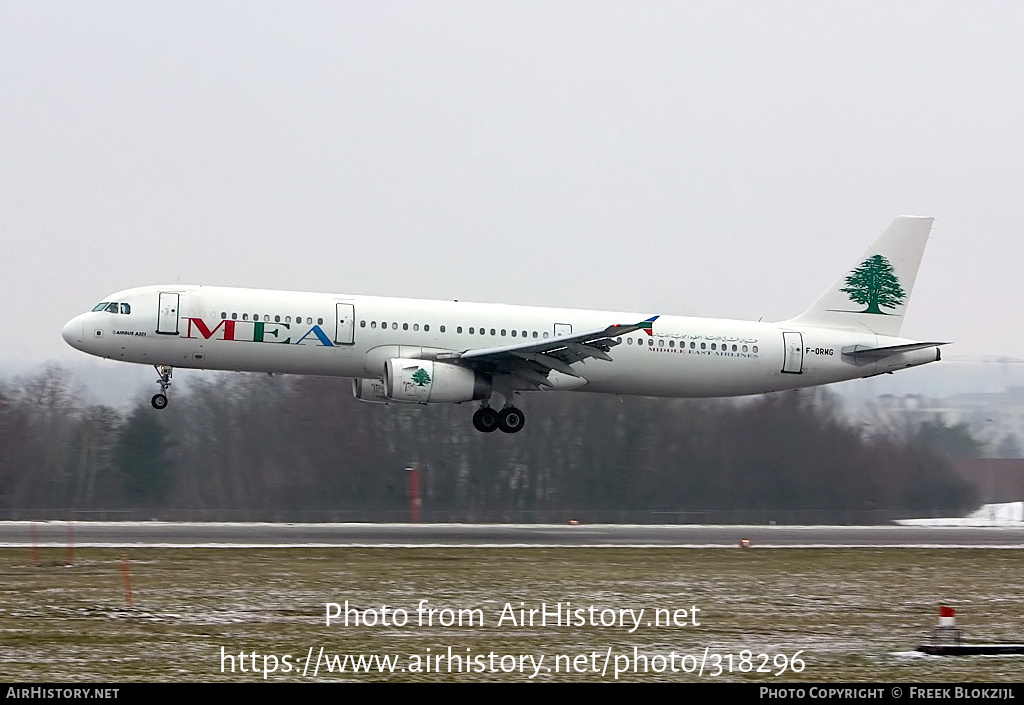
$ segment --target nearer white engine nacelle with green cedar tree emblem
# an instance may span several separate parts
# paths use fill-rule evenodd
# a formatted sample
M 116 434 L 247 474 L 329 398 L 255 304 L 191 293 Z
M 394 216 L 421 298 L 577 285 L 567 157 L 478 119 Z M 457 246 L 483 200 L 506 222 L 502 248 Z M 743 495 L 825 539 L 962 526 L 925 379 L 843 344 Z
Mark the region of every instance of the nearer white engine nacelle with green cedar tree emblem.
M 490 375 L 450 363 L 392 358 L 384 364 L 384 393 L 395 402 L 470 402 L 490 396 Z

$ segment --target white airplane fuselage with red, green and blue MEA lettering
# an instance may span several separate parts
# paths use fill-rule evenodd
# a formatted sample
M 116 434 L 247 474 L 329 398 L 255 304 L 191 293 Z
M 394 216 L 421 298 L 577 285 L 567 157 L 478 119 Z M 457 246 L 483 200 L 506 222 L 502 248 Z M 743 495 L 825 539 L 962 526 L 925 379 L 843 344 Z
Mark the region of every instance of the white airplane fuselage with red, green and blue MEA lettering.
M 209 370 L 380 379 L 418 359 L 632 324 L 643 314 L 207 286 L 112 294 L 76 317 L 73 346 L 111 360 Z M 127 305 L 122 305 L 127 304 Z M 108 306 L 110 308 L 110 306 Z M 122 313 L 126 312 L 126 313 Z M 553 375 L 554 388 L 650 397 L 732 397 L 825 384 L 933 362 L 937 348 L 882 360 L 844 349 L 911 342 L 868 331 L 660 316 L 621 336 L 611 361 Z

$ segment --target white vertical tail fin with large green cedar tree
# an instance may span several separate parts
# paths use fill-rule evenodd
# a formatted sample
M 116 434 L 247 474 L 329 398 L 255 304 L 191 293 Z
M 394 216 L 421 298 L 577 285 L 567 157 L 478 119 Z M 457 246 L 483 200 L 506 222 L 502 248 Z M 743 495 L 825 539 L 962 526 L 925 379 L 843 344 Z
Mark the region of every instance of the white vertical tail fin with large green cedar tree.
M 934 218 L 901 215 L 814 305 L 785 323 L 899 335 Z

